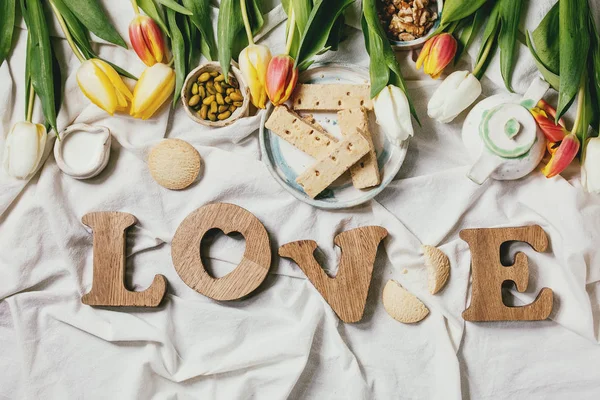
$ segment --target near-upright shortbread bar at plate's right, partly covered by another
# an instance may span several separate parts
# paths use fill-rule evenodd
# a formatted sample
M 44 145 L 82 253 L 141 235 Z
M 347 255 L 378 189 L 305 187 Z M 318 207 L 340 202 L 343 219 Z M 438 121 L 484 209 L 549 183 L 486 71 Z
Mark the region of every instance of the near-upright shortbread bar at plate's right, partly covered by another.
M 366 189 L 381 183 L 377 154 L 373 145 L 373 137 L 369 130 L 369 116 L 364 107 L 352 108 L 338 112 L 338 124 L 344 137 L 360 133 L 369 142 L 369 153 L 356 165 L 350 168 L 352 183 L 357 189 Z

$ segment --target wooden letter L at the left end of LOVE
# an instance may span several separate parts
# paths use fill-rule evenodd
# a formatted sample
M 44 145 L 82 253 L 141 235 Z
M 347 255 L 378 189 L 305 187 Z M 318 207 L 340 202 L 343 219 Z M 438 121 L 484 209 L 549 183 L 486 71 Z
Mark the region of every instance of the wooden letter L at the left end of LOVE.
M 97 212 L 83 216 L 94 231 L 94 280 L 92 290 L 81 301 L 89 306 L 158 307 L 167 289 L 167 280 L 156 275 L 143 292 L 125 288 L 125 230 L 137 220 L 131 214 Z

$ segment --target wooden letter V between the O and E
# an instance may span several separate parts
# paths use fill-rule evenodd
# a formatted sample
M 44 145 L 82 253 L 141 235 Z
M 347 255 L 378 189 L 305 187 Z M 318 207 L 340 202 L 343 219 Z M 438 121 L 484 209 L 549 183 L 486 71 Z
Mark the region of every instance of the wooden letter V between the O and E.
M 334 243 L 342 250 L 342 257 L 335 278 L 330 278 L 315 260 L 317 243 L 312 240 L 283 245 L 279 255 L 291 258 L 300 266 L 342 321 L 358 322 L 365 311 L 377 247 L 387 235 L 387 230 L 378 226 L 337 235 Z

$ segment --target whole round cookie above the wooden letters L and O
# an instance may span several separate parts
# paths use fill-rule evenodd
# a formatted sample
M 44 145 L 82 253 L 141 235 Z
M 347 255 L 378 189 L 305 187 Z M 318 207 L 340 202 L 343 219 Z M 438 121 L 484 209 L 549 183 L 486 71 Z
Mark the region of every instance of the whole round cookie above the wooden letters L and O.
M 152 178 L 159 185 L 171 190 L 182 190 L 198 177 L 202 158 L 188 142 L 166 139 L 152 148 L 148 166 Z

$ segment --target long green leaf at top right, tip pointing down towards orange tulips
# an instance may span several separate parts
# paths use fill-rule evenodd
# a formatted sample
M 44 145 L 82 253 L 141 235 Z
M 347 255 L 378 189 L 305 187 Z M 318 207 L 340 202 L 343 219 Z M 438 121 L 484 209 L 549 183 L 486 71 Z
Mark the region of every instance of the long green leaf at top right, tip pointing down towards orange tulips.
M 560 1 L 560 90 L 556 121 L 567 112 L 580 88 L 590 48 L 587 0 Z

